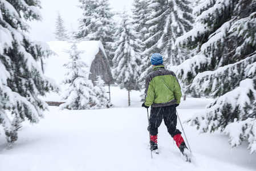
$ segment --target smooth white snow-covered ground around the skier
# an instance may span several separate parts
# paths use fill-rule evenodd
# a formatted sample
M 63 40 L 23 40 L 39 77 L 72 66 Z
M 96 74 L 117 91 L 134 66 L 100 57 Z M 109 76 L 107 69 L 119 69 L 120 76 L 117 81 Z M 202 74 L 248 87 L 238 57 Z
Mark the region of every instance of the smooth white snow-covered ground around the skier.
M 149 150 L 147 109 L 141 107 L 140 92 L 128 93 L 111 87 L 113 108 L 86 111 L 60 111 L 50 107 L 39 124 L 23 123 L 14 148 L 7 150 L 3 131 L 0 135 L 1 171 L 247 171 L 256 169 L 256 154 L 246 144 L 230 148 L 222 133 L 198 134 L 183 124 L 194 160 L 182 160 L 166 131 L 159 128 L 160 154 Z M 202 110 L 209 99 L 181 101 L 181 121 Z M 178 128 L 181 130 L 180 124 Z

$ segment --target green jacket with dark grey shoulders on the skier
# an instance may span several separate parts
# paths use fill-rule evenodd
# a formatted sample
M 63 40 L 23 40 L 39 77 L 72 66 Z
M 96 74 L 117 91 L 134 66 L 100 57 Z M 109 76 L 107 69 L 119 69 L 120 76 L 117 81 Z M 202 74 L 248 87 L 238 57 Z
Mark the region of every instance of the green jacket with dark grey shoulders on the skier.
M 179 104 L 181 88 L 174 72 L 164 65 L 153 67 L 145 82 L 145 105 L 164 107 Z

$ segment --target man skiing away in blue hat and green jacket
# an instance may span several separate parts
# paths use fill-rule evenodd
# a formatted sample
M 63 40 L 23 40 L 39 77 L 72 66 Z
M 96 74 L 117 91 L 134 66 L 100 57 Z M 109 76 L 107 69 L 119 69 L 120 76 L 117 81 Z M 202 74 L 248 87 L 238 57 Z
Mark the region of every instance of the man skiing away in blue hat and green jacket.
M 142 107 L 145 108 L 151 106 L 148 128 L 151 150 L 158 153 L 157 133 L 162 119 L 164 119 L 170 136 L 173 137 L 181 153 L 186 157 L 186 161 L 190 161 L 190 152 L 181 136 L 181 132 L 176 129 L 176 107 L 180 104 L 181 99 L 180 84 L 174 72 L 166 70 L 162 62 L 163 59 L 159 53 L 151 56 L 153 72 L 146 78 L 145 103 L 142 104 Z

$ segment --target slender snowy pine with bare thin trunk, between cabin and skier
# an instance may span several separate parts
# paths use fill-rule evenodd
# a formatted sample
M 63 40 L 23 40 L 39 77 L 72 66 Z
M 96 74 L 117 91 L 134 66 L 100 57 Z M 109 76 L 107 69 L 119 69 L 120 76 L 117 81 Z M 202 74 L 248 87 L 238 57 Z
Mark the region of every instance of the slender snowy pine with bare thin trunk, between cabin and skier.
M 121 21 L 116 27 L 115 56 L 113 58 L 113 78 L 121 88 L 128 90 L 139 89 L 139 65 L 141 43 L 139 35 L 133 28 L 132 21 L 126 11 L 121 15 Z

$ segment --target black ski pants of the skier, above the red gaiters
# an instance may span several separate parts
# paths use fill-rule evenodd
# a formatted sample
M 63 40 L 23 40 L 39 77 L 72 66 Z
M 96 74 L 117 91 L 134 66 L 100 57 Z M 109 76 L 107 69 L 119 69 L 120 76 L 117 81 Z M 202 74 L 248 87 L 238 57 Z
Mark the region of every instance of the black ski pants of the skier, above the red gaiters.
M 151 115 L 149 117 L 149 132 L 152 136 L 156 136 L 158 133 L 158 128 L 164 119 L 164 124 L 167 127 L 167 131 L 170 136 L 181 134 L 181 132 L 176 129 L 177 125 L 177 115 L 175 105 L 169 105 L 166 107 L 151 107 Z

